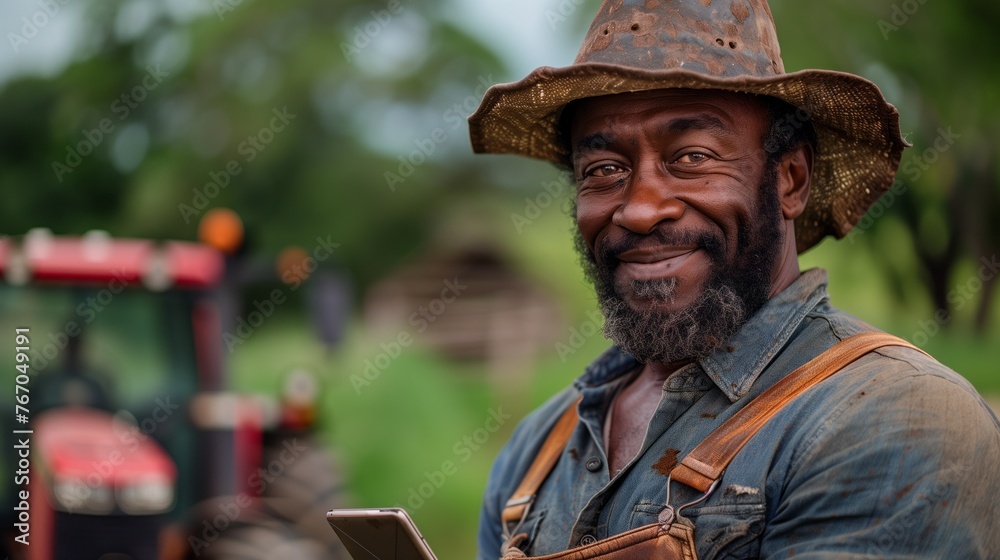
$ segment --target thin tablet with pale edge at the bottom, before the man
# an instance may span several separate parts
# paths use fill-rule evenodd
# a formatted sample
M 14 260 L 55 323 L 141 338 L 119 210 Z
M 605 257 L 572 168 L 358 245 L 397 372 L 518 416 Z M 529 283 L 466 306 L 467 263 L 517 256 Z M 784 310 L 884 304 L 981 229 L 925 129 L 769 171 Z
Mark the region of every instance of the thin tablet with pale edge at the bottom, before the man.
M 403 509 L 335 509 L 326 520 L 354 560 L 437 560 Z

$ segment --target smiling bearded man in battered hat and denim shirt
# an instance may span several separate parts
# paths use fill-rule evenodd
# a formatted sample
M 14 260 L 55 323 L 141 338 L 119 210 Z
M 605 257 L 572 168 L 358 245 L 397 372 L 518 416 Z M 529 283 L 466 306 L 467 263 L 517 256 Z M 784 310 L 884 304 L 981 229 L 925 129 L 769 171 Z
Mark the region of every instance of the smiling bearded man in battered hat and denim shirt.
M 893 181 L 905 143 L 873 84 L 784 73 L 763 0 L 608 0 L 572 66 L 492 88 L 470 128 L 477 152 L 574 174 L 614 342 L 497 458 L 481 559 L 605 557 L 650 524 L 693 527 L 703 560 L 1000 557 L 1000 423 L 914 348 L 833 368 L 707 491 L 678 467 L 799 366 L 875 331 L 797 260 Z

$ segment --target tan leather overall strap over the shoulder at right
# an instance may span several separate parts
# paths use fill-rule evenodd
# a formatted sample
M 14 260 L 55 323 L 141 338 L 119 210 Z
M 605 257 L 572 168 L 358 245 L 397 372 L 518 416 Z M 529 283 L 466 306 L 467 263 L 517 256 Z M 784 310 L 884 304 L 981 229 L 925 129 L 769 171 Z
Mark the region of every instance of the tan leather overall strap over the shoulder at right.
M 671 478 L 707 492 L 750 438 L 786 404 L 858 358 L 883 346 L 905 346 L 923 352 L 901 338 L 881 332 L 846 338 L 786 375 L 723 422 L 681 460 L 671 472 Z

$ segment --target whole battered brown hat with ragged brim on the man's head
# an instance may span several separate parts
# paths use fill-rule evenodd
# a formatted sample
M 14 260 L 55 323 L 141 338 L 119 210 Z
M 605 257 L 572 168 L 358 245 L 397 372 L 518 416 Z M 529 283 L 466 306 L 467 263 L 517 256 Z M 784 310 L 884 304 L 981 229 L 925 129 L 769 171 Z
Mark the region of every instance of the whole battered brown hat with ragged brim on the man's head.
M 566 104 L 666 88 L 769 95 L 802 109 L 787 126 L 812 120 L 818 145 L 809 203 L 795 221 L 800 253 L 847 235 L 892 186 L 908 145 L 875 84 L 827 70 L 785 73 L 765 0 L 605 0 L 571 66 L 486 92 L 469 117 L 472 147 L 565 164 L 557 127 Z

